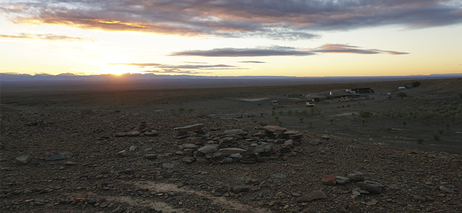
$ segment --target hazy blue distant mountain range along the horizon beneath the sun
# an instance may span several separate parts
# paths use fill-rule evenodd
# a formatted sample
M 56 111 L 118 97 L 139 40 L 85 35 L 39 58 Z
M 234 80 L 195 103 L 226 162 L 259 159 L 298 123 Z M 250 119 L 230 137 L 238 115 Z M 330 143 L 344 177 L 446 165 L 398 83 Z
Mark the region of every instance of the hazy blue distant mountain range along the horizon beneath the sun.
M 72 73 L 59 75 L 49 74 L 10 74 L 0 73 L 0 81 L 110 81 L 110 80 L 331 80 L 331 81 L 399 81 L 399 80 L 419 80 L 419 79 L 443 79 L 443 78 L 462 78 L 462 73 L 454 74 L 432 74 L 432 75 L 409 75 L 409 76 L 349 76 L 349 77 L 293 77 L 293 76 L 192 76 L 192 75 L 156 75 L 148 74 L 122 74 L 122 75 L 88 75 L 79 76 Z

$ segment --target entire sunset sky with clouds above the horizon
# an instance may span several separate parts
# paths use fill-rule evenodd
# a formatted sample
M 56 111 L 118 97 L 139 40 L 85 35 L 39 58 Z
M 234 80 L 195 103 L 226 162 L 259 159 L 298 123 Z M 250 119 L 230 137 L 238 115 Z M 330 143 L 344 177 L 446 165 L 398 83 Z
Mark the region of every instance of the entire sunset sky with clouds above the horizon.
M 0 73 L 462 73 L 462 1 L 0 0 Z

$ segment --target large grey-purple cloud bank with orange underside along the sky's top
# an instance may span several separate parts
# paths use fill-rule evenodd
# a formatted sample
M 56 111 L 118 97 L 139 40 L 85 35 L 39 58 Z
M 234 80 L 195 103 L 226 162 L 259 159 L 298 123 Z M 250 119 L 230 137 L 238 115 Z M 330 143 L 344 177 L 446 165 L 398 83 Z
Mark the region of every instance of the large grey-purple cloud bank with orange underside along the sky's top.
M 0 3 L 0 12 L 13 23 L 283 40 L 318 38 L 319 33 L 331 30 L 462 23 L 462 5 L 457 0 L 42 0 Z

